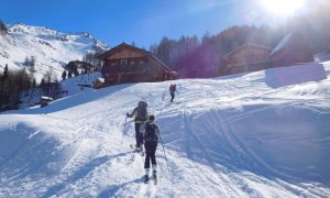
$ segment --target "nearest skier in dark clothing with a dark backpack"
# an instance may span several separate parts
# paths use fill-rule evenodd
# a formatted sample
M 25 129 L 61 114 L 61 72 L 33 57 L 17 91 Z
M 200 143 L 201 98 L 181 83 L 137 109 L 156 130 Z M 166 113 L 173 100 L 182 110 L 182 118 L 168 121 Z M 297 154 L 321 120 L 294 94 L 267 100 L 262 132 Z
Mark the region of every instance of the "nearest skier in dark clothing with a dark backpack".
M 157 150 L 160 138 L 161 138 L 160 127 L 155 123 L 155 116 L 151 114 L 148 117 L 148 122 L 146 122 L 145 124 L 145 131 L 143 135 L 144 148 L 145 148 L 145 161 L 144 161 L 145 183 L 148 183 L 150 162 L 152 163 L 154 182 L 155 184 L 157 183 L 157 162 L 156 162 L 155 153 Z

